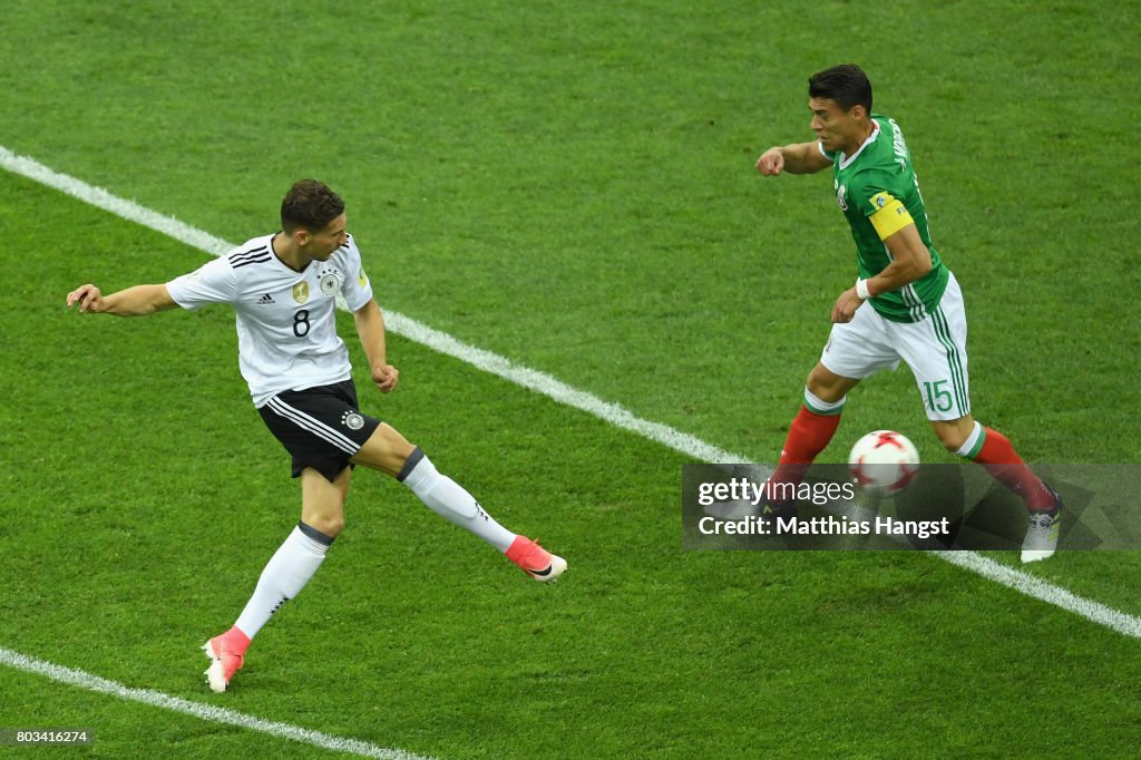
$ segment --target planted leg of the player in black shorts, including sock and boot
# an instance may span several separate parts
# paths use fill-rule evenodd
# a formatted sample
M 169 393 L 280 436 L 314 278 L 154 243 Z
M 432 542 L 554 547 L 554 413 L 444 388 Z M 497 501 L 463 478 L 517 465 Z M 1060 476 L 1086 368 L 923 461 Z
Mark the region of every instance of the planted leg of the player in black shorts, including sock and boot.
M 321 567 L 333 539 L 345 527 L 345 499 L 351 474 L 346 467 L 329 480 L 313 468 L 301 471 L 301 522 L 261 571 L 253 596 L 234 626 L 202 646 L 210 660 L 207 680 L 215 692 L 229 687 L 234 673 L 245 662 L 245 650 L 253 637 Z

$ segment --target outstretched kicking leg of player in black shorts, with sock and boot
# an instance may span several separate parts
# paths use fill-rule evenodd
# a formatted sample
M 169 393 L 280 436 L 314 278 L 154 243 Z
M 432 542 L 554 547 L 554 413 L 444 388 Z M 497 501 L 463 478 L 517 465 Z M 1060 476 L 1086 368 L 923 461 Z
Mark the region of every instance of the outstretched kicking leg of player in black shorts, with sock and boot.
M 567 567 L 561 557 L 496 523 L 470 493 L 442 475 L 419 446 L 389 425 L 381 423 L 351 461 L 391 475 L 430 510 L 492 544 L 537 581 L 553 581 Z

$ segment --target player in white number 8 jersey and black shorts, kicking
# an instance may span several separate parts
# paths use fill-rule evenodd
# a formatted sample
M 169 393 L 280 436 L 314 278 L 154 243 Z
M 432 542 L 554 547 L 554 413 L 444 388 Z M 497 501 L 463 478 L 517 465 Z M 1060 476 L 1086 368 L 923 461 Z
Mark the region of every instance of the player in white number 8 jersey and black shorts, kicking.
M 293 477 L 301 480 L 301 520 L 265 566 L 234 625 L 203 645 L 215 692 L 227 689 L 250 640 L 321 566 L 345 525 L 356 464 L 396 477 L 429 509 L 492 544 L 537 581 L 555 581 L 567 567 L 561 557 L 496 523 L 471 494 L 438 472 L 419 446 L 358 409 L 348 349 L 337 335 L 338 294 L 353 312 L 377 388 L 394 390 L 399 372 L 388 363 L 385 320 L 346 231 L 345 204 L 324 184 L 304 179 L 285 195 L 281 219 L 281 232 L 254 237 L 165 284 L 110 296 L 86 284 L 67 294 L 68 307 L 119 316 L 232 305 L 242 377 L 266 426 L 292 455 Z

